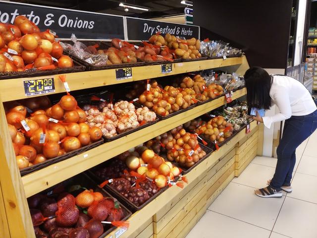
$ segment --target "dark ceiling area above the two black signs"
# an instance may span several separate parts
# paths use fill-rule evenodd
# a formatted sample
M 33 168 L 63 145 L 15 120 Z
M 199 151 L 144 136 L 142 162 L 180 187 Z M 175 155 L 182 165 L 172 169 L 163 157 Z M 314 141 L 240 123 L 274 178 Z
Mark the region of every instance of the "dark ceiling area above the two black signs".
M 152 18 L 166 15 L 184 14 L 181 0 L 11 0 L 16 2 L 62 7 L 75 10 L 102 12 L 114 15 Z M 150 8 L 149 11 L 129 9 L 128 12 L 119 3 L 129 3 Z

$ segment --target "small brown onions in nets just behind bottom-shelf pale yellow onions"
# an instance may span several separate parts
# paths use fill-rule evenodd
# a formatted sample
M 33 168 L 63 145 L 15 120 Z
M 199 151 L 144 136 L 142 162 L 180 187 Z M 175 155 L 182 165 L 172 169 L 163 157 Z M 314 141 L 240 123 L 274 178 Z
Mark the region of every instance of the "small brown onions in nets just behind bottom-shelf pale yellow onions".
M 166 154 L 169 161 L 190 168 L 206 156 L 198 137 L 186 132 L 182 125 L 149 140 L 146 145 L 157 153 Z

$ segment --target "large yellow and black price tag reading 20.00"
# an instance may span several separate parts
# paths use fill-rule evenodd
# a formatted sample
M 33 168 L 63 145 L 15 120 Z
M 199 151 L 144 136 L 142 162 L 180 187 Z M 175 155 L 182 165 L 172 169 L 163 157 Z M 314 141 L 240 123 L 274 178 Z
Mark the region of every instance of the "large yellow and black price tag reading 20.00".
M 23 85 L 27 97 L 55 92 L 54 78 L 25 80 Z

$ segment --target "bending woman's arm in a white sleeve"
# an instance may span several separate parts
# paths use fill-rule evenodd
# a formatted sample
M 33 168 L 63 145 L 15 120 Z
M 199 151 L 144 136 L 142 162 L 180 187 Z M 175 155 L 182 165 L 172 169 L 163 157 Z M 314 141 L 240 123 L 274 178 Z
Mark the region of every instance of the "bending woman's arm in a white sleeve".
M 263 123 L 267 128 L 270 128 L 271 124 L 274 122 L 286 120 L 292 116 L 291 103 L 289 101 L 289 93 L 285 87 L 279 86 L 276 90 L 274 90 L 272 94 L 272 99 L 274 100 L 280 113 L 272 117 L 262 118 Z

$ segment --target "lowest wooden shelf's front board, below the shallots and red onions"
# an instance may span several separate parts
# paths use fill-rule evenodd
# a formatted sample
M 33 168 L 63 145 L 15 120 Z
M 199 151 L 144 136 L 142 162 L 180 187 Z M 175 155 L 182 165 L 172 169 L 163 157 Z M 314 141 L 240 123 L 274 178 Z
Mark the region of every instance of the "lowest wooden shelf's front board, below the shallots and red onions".
M 257 122 L 253 121 L 250 123 L 251 131 L 257 127 Z M 140 227 L 140 224 L 143 224 L 144 221 L 148 220 L 150 217 L 154 216 L 160 210 L 165 209 L 169 210 L 173 204 L 177 203 L 175 201 L 176 197 L 180 196 L 181 193 L 185 193 L 186 190 L 192 189 L 191 183 L 195 183 L 194 181 L 198 178 L 203 179 L 207 176 L 207 172 L 211 170 L 212 166 L 216 164 L 219 158 L 226 155 L 233 146 L 238 143 L 243 137 L 246 136 L 246 131 L 242 130 L 237 133 L 227 144 L 224 144 L 220 147 L 218 151 L 213 152 L 206 160 L 200 163 L 196 168 L 194 168 L 191 172 L 186 174 L 188 179 L 188 184 L 185 184 L 183 189 L 178 186 L 169 187 L 166 191 L 160 194 L 157 198 L 155 198 L 152 202 L 142 208 L 140 211 L 135 212 L 128 221 L 130 222 L 130 227 L 127 231 L 125 231 L 120 238 L 129 238 L 134 232 Z M 234 160 L 233 160 L 234 162 Z M 231 178 L 232 179 L 232 178 Z M 196 183 L 195 183 L 196 184 Z M 179 199 L 180 199 L 179 198 Z M 121 233 L 122 229 L 117 228 L 112 233 L 110 233 L 106 238 L 115 238 L 116 233 Z

